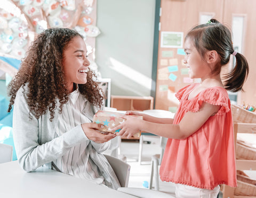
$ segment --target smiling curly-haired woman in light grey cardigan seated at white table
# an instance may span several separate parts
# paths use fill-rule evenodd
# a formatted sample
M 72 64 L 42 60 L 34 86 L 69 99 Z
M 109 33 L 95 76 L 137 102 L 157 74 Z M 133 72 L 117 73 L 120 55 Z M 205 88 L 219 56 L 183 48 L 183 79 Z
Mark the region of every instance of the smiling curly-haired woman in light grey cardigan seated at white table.
M 10 83 L 14 144 L 26 171 L 46 165 L 116 189 L 118 179 L 101 154 L 115 135 L 94 130 L 103 97 L 89 65 L 76 31 L 47 29 L 37 36 Z

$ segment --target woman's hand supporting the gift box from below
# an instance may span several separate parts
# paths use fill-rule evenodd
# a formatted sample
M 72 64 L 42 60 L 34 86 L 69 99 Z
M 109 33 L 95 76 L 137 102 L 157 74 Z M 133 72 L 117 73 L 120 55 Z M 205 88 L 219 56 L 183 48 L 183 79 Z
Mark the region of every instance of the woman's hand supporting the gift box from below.
M 101 124 L 96 124 L 96 123 L 82 124 L 82 128 L 86 137 L 89 140 L 92 140 L 96 143 L 104 143 L 116 137 L 116 134 L 114 133 L 102 134 L 99 131 L 97 131 L 97 130 L 101 130 L 102 128 L 101 126 L 102 126 Z

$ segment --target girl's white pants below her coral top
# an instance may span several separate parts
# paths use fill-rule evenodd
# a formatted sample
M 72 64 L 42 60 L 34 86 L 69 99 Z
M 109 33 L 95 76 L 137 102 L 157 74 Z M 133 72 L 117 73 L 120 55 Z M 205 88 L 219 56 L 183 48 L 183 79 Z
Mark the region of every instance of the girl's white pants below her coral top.
M 175 185 L 175 197 L 177 198 L 216 198 L 220 191 L 220 186 L 216 186 L 213 190 L 196 188 L 183 184 Z

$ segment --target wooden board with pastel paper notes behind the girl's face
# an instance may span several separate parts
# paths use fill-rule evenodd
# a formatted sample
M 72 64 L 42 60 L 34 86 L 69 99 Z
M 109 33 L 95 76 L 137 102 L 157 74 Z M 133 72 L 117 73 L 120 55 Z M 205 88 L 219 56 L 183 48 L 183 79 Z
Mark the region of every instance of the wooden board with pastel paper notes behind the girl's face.
M 188 84 L 201 81 L 190 79 L 188 68 L 183 63 L 184 38 L 193 26 L 200 23 L 200 13 L 211 13 L 211 17 L 214 15 L 221 19 L 222 10 L 217 6 L 220 3 L 221 0 L 207 3 L 201 0 L 161 1 L 155 109 L 175 113 L 179 105 L 175 93 Z

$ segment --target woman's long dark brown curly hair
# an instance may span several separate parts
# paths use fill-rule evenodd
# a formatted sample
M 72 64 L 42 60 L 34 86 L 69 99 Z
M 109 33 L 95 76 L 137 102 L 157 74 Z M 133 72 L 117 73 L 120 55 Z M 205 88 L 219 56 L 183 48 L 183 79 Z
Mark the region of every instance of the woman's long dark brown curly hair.
M 26 84 L 28 84 L 26 100 L 29 110 L 37 119 L 49 110 L 50 120 L 52 120 L 54 110 L 57 109 L 57 101 L 59 101 L 59 112 L 61 112 L 63 105 L 69 99 L 62 66 L 63 51 L 75 37 L 83 38 L 78 32 L 68 28 L 47 29 L 37 36 L 22 60 L 17 75 L 9 84 L 11 96 L 9 112 L 17 91 L 21 87 L 24 88 Z M 96 79 L 95 73 L 89 68 L 86 84 L 79 84 L 78 89 L 91 104 L 101 107 L 103 105 L 102 90 L 94 81 Z

